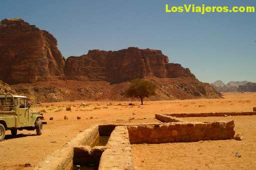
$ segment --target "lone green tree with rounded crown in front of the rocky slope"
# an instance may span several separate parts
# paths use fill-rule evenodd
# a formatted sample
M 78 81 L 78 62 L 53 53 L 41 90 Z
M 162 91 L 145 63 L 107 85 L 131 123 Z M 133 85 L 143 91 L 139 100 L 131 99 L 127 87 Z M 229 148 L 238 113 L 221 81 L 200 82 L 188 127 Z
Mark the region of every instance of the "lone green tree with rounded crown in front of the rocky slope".
M 148 80 L 134 79 L 131 85 L 125 90 L 125 95 L 128 97 L 137 97 L 143 105 L 143 98 L 155 95 L 156 85 Z

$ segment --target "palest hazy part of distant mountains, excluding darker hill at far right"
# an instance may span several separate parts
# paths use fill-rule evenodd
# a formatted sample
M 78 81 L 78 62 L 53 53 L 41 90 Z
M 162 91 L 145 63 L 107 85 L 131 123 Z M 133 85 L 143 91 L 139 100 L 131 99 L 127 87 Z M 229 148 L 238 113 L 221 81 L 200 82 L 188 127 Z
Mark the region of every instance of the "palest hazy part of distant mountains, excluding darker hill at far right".
M 217 80 L 211 85 L 220 92 L 232 92 L 237 91 L 239 85 L 246 84 L 248 81 L 229 81 L 227 84 L 225 84 L 221 80 Z

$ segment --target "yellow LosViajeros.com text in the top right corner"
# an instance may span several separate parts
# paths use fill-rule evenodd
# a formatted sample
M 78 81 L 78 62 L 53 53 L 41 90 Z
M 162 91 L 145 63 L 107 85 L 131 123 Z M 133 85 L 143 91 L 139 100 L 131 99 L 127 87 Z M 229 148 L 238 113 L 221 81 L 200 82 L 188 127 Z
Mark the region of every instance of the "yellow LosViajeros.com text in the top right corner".
M 165 4 L 165 12 L 255 12 L 255 6 L 201 6 L 195 4 L 184 4 L 183 6 L 170 6 Z

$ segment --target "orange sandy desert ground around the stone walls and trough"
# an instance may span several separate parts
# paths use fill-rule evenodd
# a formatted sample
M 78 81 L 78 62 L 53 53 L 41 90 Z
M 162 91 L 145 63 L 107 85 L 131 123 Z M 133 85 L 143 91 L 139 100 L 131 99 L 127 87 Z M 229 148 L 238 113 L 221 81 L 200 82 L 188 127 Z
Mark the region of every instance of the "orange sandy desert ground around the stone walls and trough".
M 256 106 L 256 93 L 224 93 L 224 97 L 221 99 L 147 101 L 143 106 L 140 106 L 139 102 L 134 102 L 137 105 L 128 106 L 128 101 L 45 103 L 43 107 L 32 108 L 46 110 L 44 115 L 48 124 L 44 126 L 43 135 L 37 136 L 35 131 L 23 130 L 18 131 L 18 137 L 12 138 L 8 131 L 6 139 L 0 142 L 0 169 L 30 169 L 31 167 L 24 167 L 24 164 L 28 162 L 34 166 L 44 156 L 61 148 L 80 130 L 92 124 L 159 122 L 154 118 L 155 113 L 252 111 L 252 107 Z M 82 102 L 89 105 L 80 106 Z M 110 102 L 113 105 L 107 105 Z M 122 105 L 117 105 L 118 103 Z M 72 111 L 66 111 L 67 105 L 72 105 Z M 55 112 L 59 109 L 63 110 Z M 64 115 L 67 115 L 69 119 L 64 120 Z M 77 116 L 81 116 L 81 119 L 77 120 Z M 49 120 L 50 117 L 54 117 L 54 120 Z M 94 118 L 90 119 L 90 117 Z M 129 117 L 135 117 L 135 120 L 129 121 Z M 193 121 L 234 119 L 235 131 L 241 132 L 245 139 L 242 141 L 217 140 L 133 145 L 134 164 L 138 169 L 255 169 L 256 116 L 188 117 L 185 119 Z M 240 158 L 234 156 L 236 151 L 242 155 Z

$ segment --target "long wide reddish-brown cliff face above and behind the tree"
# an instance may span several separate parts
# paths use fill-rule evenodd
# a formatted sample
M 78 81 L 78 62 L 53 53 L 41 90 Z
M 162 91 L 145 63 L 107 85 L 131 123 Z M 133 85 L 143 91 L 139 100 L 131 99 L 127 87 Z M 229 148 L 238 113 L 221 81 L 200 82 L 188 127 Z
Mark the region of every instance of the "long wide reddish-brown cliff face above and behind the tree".
M 122 82 L 146 76 L 194 77 L 188 68 L 168 63 L 161 50 L 128 47 L 118 51 L 89 50 L 88 54 L 70 56 L 66 61 L 68 79 Z

